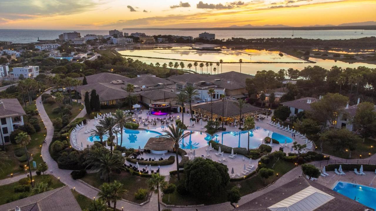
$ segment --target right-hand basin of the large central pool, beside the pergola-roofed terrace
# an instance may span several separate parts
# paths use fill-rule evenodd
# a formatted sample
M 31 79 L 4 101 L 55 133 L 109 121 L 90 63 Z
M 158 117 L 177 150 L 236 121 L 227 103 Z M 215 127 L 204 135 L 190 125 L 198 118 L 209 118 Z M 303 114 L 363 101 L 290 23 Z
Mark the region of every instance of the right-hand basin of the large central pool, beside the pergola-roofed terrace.
M 232 132 L 221 132 L 215 134 L 213 140 L 217 143 L 230 146 L 230 147 L 244 147 L 248 146 L 248 131 L 232 131 Z M 260 144 L 264 142 L 265 137 L 271 137 L 279 141 L 279 143 L 291 143 L 293 140 L 289 137 L 283 136 L 279 133 L 274 133 L 273 131 L 266 130 L 261 127 L 256 127 L 249 132 L 249 148 L 258 148 Z

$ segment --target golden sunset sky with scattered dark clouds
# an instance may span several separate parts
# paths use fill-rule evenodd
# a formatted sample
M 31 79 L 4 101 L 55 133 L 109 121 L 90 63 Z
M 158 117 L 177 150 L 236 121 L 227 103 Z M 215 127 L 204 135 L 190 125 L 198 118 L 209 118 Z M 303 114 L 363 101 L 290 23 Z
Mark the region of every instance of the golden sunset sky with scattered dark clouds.
M 0 29 L 338 25 L 376 21 L 376 0 L 0 0 Z

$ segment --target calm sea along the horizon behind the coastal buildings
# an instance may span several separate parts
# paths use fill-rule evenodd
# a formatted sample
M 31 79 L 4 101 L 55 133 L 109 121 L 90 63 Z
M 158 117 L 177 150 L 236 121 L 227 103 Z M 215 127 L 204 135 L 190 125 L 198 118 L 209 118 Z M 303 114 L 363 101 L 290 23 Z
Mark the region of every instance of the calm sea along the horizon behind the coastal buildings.
M 81 36 L 86 34 L 108 35 L 108 30 L 22 30 L 0 29 L 0 41 L 14 43 L 37 42 L 39 39 L 57 39 L 63 32 L 77 31 Z M 121 30 L 127 33 L 144 32 L 147 35 L 181 35 L 198 37 L 203 31 L 194 30 Z M 217 39 L 227 38 L 307 38 L 307 39 L 352 39 L 376 36 L 376 30 L 211 30 Z

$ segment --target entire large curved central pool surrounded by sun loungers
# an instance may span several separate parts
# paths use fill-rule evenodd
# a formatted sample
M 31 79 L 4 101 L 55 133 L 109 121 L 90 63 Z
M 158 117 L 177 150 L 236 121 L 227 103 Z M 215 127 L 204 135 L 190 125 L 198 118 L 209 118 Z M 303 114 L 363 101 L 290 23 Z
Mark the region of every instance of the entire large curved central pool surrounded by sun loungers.
M 151 137 L 161 136 L 163 130 L 166 127 L 155 128 L 153 130 L 131 130 L 123 129 L 123 145 L 126 148 L 138 147 L 144 148 L 146 142 Z M 293 140 L 290 137 L 283 136 L 279 133 L 274 133 L 273 131 L 266 130 L 264 128 L 256 127 L 253 130 L 248 131 L 232 131 L 232 132 L 220 132 L 211 136 L 205 132 L 185 130 L 186 132 L 191 132 L 188 137 L 185 137 L 180 143 L 180 148 L 182 149 L 197 149 L 207 146 L 210 140 L 214 140 L 217 143 L 221 143 L 230 147 L 244 147 L 247 148 L 248 145 L 248 134 L 249 134 L 249 148 L 255 149 L 263 142 L 264 138 L 269 136 L 273 139 L 278 140 L 280 143 L 291 143 Z M 120 143 L 120 134 L 118 136 L 118 142 Z M 103 137 L 103 140 L 107 140 L 108 136 Z M 99 141 L 99 136 L 89 136 L 88 141 Z

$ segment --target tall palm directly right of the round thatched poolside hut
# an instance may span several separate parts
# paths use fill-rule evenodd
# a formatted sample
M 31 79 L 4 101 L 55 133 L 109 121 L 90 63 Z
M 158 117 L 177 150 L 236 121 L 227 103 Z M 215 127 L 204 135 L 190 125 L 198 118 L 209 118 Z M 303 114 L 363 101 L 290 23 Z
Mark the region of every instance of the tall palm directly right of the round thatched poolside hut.
M 171 139 L 174 142 L 174 148 L 176 153 L 176 170 L 177 170 L 177 180 L 180 180 L 179 177 L 179 143 L 186 137 L 192 134 L 192 132 L 184 133 L 184 130 L 179 127 L 175 127 L 173 124 L 168 126 L 168 130 L 162 130 L 163 135 L 159 136 L 162 138 Z

